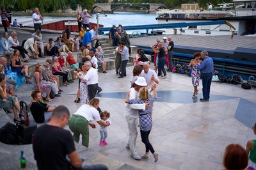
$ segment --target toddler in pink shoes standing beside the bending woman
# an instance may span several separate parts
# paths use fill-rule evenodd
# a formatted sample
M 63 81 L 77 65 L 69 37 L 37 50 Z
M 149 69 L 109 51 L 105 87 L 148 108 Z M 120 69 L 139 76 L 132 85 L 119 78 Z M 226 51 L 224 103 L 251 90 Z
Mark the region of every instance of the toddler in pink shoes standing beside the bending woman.
M 104 123 L 111 124 L 111 121 L 109 120 L 109 116 L 110 114 L 107 111 L 100 112 L 100 118 L 102 121 L 104 121 Z M 108 144 L 106 141 L 107 137 L 108 137 L 107 127 L 100 125 L 100 146 L 104 146 Z

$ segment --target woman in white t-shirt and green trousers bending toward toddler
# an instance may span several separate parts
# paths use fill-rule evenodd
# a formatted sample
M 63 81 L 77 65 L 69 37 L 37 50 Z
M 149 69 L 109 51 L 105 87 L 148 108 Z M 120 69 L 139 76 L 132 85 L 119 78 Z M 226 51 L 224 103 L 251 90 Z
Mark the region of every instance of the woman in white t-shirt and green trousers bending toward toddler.
M 70 130 L 74 133 L 74 141 L 79 143 L 80 134 L 82 135 L 82 145 L 89 146 L 89 126 L 96 128 L 96 125 L 91 123 L 91 121 L 96 120 L 99 125 L 108 127 L 110 124 L 105 123 L 101 120 L 99 111 L 100 100 L 98 98 L 93 98 L 90 100 L 89 104 L 84 104 L 79 109 L 72 114 L 68 126 Z

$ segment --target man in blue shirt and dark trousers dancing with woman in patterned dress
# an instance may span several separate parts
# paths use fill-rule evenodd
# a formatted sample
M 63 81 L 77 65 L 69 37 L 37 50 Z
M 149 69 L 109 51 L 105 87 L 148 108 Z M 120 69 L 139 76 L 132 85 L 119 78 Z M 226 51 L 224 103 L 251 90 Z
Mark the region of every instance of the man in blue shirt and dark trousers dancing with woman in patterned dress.
M 208 102 L 210 98 L 212 72 L 214 70 L 213 61 L 212 58 L 208 56 L 208 52 L 206 50 L 203 50 L 201 52 L 201 56 L 204 59 L 204 61 L 201 64 L 198 64 L 197 68 L 202 72 L 204 98 L 200 98 L 200 102 Z

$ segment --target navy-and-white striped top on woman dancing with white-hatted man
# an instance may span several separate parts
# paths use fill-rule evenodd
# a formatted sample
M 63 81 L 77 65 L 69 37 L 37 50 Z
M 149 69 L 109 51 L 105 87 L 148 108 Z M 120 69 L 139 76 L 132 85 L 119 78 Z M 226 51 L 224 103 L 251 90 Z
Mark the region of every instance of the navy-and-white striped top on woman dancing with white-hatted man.
M 150 105 L 156 100 L 154 97 L 150 97 L 146 102 L 148 102 Z M 132 99 L 128 100 L 128 104 L 144 104 L 145 102 L 141 99 Z M 143 130 L 144 132 L 147 132 L 151 130 L 152 128 L 152 118 L 148 114 L 149 107 L 143 110 L 139 110 L 139 116 L 140 116 L 140 130 Z

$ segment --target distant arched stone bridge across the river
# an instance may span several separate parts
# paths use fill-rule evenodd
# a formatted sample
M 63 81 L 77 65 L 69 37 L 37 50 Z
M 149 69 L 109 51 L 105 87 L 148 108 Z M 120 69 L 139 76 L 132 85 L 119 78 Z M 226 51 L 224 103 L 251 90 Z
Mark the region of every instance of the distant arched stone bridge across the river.
M 166 9 L 164 4 L 154 4 L 154 3 L 99 3 L 93 4 L 92 12 L 95 8 L 101 8 L 102 12 L 113 13 L 116 9 L 124 6 L 136 6 L 148 12 L 155 12 L 159 9 Z

